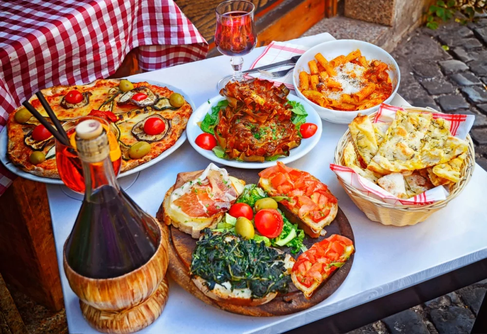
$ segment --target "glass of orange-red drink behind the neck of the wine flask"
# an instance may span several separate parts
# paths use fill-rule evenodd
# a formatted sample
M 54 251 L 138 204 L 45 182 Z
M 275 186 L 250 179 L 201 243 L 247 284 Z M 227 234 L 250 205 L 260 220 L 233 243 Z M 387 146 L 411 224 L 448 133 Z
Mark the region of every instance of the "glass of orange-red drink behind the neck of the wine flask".
M 76 125 L 87 119 L 95 119 L 99 121 L 102 127 L 107 131 L 108 140 L 110 143 L 110 159 L 112 160 L 113 171 L 115 175 L 120 172 L 122 166 L 122 155 L 118 140 L 111 130 L 110 124 L 95 116 L 80 116 L 73 118 L 72 120 L 64 123 L 62 127 L 66 130 L 66 134 L 70 139 L 70 146 L 65 146 L 56 139 L 56 165 L 59 176 L 62 182 L 71 190 L 84 193 L 85 191 L 85 179 L 83 177 L 83 168 L 81 161 L 76 151 L 76 143 L 74 140 Z

